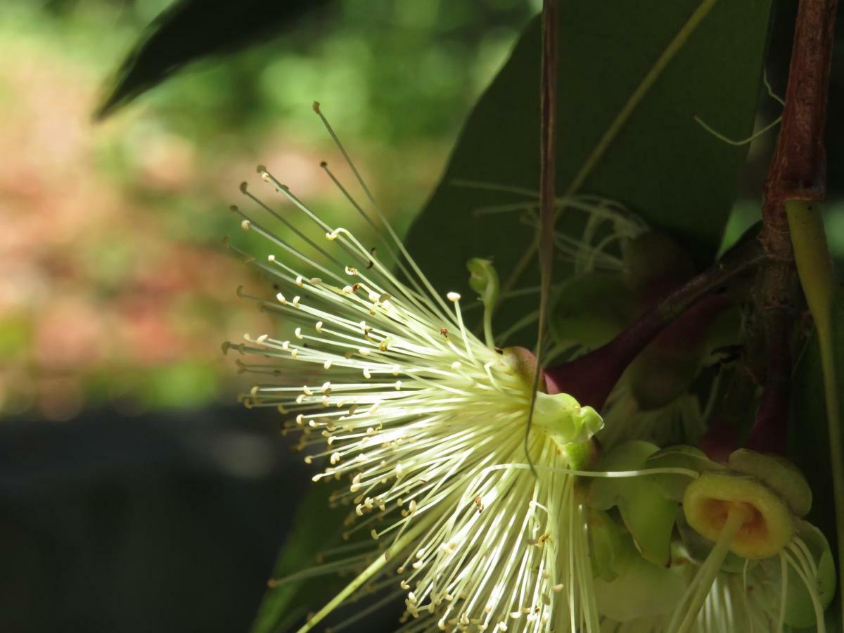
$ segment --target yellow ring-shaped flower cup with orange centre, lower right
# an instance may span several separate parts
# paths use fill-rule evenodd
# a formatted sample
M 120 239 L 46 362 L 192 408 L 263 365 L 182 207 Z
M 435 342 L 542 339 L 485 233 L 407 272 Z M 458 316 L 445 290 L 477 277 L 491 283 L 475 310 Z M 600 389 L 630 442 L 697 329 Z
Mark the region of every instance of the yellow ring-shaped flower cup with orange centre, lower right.
M 683 510 L 689 525 L 712 541 L 722 536 L 728 517 L 738 514 L 740 523 L 728 547 L 749 559 L 778 554 L 795 529 L 785 501 L 758 479 L 740 473 L 701 474 L 686 488 Z

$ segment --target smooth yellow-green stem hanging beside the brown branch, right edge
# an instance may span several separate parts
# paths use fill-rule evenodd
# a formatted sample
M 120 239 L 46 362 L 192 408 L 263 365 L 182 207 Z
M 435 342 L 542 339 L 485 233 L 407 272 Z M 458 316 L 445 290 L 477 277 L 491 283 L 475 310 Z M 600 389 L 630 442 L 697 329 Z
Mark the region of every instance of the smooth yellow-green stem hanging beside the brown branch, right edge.
M 844 563 L 844 451 L 841 447 L 841 403 L 838 399 L 836 358 L 833 340 L 833 297 L 836 292 L 824 218 L 820 204 L 805 200 L 785 203 L 788 228 L 794 248 L 803 294 L 814 319 L 820 344 L 820 367 L 824 376 L 826 425 L 830 438 L 832 490 L 836 506 L 839 574 Z M 841 609 L 844 609 L 844 583 L 839 582 Z

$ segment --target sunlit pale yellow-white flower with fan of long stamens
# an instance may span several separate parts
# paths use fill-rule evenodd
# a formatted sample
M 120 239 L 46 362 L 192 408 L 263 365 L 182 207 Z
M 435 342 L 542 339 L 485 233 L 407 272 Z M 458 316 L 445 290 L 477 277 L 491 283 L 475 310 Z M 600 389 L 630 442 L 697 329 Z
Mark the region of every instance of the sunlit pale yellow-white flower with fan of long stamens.
M 314 479 L 348 481 L 338 500 L 354 507 L 349 533 L 365 530 L 381 544 L 303 630 L 389 567 L 406 592 L 407 630 L 598 631 L 582 495 L 566 472 L 572 446 L 582 451 L 600 429 L 598 414 L 539 393 L 526 445 L 533 368 L 524 358 L 468 330 L 460 295 L 432 288 L 377 208 L 391 240 L 372 249 L 259 171 L 317 234 L 263 203 L 287 225 L 284 236 L 233 208 L 244 230 L 298 260 L 252 262 L 280 289 L 274 301 L 252 299 L 288 333 L 234 346 L 262 358 L 241 366 L 268 379 L 242 399 L 288 416 L 306 461 L 327 461 Z

